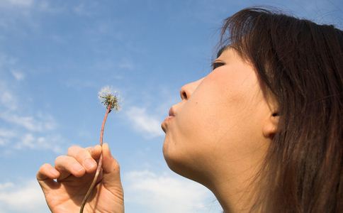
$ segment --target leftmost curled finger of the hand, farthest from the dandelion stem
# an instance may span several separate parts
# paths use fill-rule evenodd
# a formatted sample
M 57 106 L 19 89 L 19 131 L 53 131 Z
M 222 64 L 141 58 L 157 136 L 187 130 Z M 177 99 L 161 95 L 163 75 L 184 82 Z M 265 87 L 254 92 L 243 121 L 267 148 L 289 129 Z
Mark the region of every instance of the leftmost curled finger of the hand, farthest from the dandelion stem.
M 43 191 L 47 190 L 47 188 L 54 187 L 57 185 L 57 182 L 54 179 L 60 177 L 60 172 L 58 172 L 55 168 L 52 167 L 49 163 L 45 163 L 40 166 L 36 178 L 40 187 L 42 187 Z

